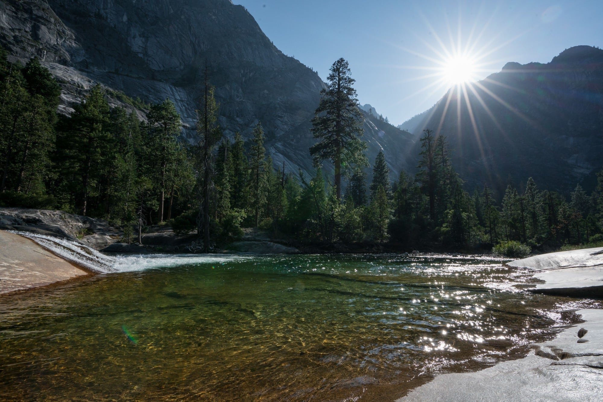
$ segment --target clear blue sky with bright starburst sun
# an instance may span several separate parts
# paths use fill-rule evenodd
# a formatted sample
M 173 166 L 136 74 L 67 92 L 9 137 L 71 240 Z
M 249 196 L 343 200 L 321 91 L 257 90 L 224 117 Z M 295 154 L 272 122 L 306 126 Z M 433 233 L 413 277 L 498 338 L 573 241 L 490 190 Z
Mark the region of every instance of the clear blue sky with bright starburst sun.
M 427 110 L 457 80 L 481 80 L 508 61 L 548 63 L 572 46 L 603 47 L 603 0 L 233 3 L 323 81 L 345 58 L 360 104 L 394 125 Z

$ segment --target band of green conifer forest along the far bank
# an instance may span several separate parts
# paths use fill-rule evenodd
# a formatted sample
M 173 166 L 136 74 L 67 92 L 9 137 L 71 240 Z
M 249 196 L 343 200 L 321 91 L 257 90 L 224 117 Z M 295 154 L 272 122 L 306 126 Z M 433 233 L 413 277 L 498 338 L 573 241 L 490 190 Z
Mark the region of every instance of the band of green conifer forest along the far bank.
M 312 119 L 311 176 L 273 163 L 261 122 L 249 141 L 223 136 L 210 83 L 197 110 L 197 140 L 188 142 L 170 99 L 147 104 L 122 95 L 127 111 L 110 107 L 97 84 L 71 114 L 57 113 L 61 89 L 49 71 L 37 58 L 9 63 L 5 53 L 0 80 L 0 206 L 106 219 L 121 225 L 128 243 L 151 225 L 197 236 L 206 252 L 244 228 L 324 250 L 603 240 L 603 172 L 590 194 L 577 183 L 571 193 L 555 192 L 525 172 L 522 186 L 495 195 L 488 183 L 464 186 L 446 135 L 426 129 L 416 172 L 391 177 L 387 149 L 374 160 L 363 153 L 363 115 L 343 58 L 333 63 Z

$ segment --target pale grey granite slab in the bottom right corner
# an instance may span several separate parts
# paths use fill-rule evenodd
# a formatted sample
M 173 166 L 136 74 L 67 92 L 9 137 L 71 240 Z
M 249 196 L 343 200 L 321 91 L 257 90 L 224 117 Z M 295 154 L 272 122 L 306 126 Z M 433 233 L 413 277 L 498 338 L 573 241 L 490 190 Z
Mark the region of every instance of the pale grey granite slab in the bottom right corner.
M 443 374 L 397 402 L 589 402 L 603 398 L 603 310 L 579 310 L 586 322 L 519 360 L 467 373 Z

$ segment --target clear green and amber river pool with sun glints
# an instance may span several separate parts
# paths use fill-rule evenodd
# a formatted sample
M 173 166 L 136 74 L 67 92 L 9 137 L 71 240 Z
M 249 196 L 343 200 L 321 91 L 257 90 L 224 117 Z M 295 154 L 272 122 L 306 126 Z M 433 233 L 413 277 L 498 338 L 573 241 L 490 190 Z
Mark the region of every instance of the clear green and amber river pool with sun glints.
M 517 291 L 529 274 L 487 259 L 165 265 L 0 297 L 0 400 L 393 400 L 595 304 Z

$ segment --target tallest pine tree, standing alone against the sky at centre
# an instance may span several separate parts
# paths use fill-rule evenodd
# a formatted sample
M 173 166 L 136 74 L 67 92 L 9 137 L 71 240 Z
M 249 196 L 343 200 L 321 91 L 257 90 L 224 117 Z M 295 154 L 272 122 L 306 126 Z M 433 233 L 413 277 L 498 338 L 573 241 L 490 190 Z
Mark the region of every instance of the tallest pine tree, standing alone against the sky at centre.
M 312 119 L 312 133 L 320 139 L 310 148 L 314 165 L 331 160 L 335 166 L 335 189 L 341 199 L 341 169 L 352 165 L 368 166 L 362 152 L 367 145 L 359 137 L 364 134 L 364 115 L 358 108 L 349 64 L 343 58 L 330 68 L 328 88 L 321 90 L 320 104 Z

